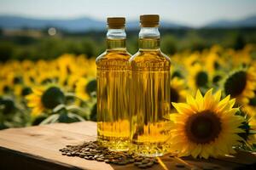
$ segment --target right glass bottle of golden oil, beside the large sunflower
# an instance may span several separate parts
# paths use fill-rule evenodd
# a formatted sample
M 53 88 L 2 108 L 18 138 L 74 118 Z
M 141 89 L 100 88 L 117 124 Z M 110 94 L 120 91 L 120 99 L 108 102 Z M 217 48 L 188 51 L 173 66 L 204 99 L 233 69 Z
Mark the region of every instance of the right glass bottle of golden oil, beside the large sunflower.
M 141 15 L 139 50 L 131 64 L 131 148 L 140 156 L 167 150 L 171 60 L 160 50 L 159 15 Z

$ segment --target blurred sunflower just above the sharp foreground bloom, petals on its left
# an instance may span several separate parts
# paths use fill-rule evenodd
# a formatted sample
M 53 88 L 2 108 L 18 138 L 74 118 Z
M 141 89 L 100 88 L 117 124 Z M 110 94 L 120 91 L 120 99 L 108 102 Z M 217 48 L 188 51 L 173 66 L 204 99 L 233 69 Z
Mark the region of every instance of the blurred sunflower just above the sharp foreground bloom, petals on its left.
M 189 88 L 195 94 L 196 89 L 207 88 L 209 82 L 209 75 L 202 65 L 195 64 L 189 67 L 188 84 Z

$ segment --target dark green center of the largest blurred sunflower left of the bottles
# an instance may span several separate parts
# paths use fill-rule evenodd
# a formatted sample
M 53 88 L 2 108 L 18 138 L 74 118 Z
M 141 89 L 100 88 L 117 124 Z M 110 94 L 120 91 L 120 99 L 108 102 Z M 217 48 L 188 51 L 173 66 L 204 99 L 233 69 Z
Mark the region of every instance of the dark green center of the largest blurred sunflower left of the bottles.
M 55 106 L 63 104 L 65 96 L 60 88 L 48 88 L 41 97 L 41 101 L 45 108 L 54 109 Z

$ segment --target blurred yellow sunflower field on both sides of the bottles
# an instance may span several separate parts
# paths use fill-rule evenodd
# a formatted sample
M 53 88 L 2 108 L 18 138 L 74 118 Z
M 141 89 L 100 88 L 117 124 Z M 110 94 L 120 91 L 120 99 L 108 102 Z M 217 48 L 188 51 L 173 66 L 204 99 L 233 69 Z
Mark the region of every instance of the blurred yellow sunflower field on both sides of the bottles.
M 178 52 L 170 58 L 172 111 L 181 110 L 176 103 L 194 101 L 188 96 L 196 94 L 200 100 L 198 89 L 206 96 L 212 89 L 211 93 L 218 95 L 214 99 L 236 99 L 230 100 L 230 105 L 239 108 L 236 115 L 244 117 L 242 137 L 247 144 L 253 144 L 256 46 L 247 44 L 235 50 L 214 45 L 201 52 Z M 95 58 L 63 54 L 49 60 L 9 60 L 0 68 L 0 129 L 96 121 Z

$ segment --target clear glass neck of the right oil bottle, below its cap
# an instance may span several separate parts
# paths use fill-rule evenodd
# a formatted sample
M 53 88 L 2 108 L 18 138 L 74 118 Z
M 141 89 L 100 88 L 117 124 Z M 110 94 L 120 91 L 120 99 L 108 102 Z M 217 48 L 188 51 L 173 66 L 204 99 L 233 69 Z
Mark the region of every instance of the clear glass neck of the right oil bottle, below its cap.
M 158 50 L 160 49 L 160 32 L 158 27 L 142 27 L 139 32 L 140 50 Z

